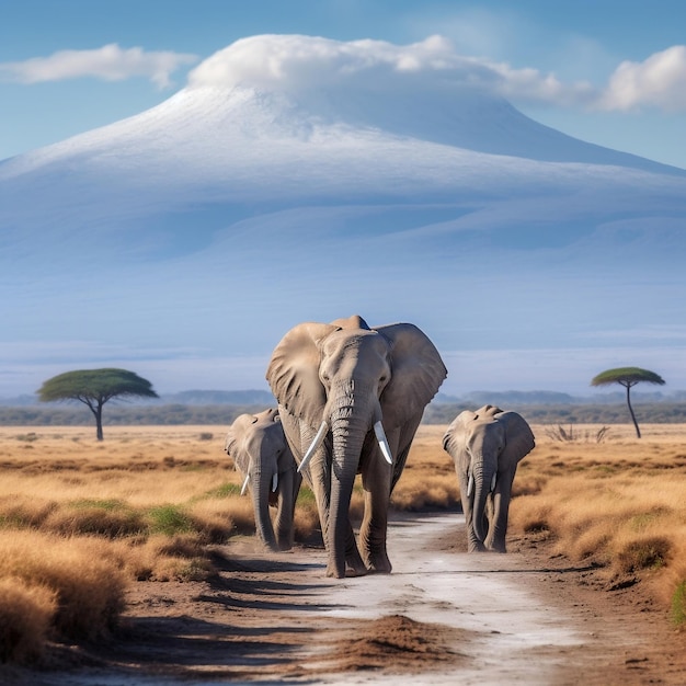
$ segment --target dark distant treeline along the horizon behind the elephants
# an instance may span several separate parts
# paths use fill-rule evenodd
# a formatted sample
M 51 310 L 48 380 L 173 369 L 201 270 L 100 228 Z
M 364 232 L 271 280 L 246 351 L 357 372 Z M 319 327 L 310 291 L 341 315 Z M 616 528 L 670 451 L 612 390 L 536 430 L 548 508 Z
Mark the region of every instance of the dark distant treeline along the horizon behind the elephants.
M 260 412 L 268 404 L 107 404 L 103 421 L 110 426 L 130 425 L 229 425 L 244 412 Z M 476 410 L 472 403 L 432 402 L 424 412 L 425 424 L 448 424 L 462 410 Z M 631 420 L 626 403 L 617 404 L 501 404 L 503 410 L 519 412 L 534 424 L 625 424 Z M 686 402 L 634 402 L 639 423 L 686 423 Z M 78 404 L 0 407 L 1 426 L 89 426 L 91 412 Z

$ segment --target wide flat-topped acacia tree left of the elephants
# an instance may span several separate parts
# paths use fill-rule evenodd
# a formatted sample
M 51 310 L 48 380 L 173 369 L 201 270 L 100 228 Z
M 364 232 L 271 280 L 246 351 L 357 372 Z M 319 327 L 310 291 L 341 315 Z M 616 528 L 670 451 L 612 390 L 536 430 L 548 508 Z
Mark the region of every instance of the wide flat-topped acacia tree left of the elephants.
M 103 439 L 102 407 L 112 398 L 158 398 L 150 381 L 126 369 L 78 369 L 48 379 L 38 389 L 44 402 L 78 400 L 95 418 L 98 441 Z

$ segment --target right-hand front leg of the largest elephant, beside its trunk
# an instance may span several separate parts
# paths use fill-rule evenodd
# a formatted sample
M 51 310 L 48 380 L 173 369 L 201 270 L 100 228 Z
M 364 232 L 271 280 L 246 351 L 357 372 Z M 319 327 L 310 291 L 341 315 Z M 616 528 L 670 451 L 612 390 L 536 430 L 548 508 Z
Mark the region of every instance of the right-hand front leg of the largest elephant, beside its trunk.
M 362 472 L 365 514 L 359 527 L 359 546 L 366 568 L 381 574 L 390 574 L 392 569 L 386 550 L 391 480 L 392 467 L 381 457 L 377 447 L 369 455 Z

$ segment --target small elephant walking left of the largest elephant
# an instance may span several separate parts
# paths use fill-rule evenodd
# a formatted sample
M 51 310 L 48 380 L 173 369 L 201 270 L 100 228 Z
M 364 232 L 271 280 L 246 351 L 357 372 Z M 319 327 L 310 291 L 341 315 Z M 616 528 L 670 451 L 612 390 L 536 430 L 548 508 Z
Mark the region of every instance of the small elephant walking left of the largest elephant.
M 271 550 L 288 550 L 294 540 L 294 512 L 302 477 L 284 435 L 275 408 L 236 418 L 225 450 L 252 494 L 258 537 Z M 270 505 L 276 506 L 274 525 Z

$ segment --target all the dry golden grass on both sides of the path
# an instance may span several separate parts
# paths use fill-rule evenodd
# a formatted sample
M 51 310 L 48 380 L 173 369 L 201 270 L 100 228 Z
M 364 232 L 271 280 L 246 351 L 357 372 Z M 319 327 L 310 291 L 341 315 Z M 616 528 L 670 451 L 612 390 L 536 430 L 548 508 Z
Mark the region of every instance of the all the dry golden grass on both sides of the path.
M 457 477 L 445 426 L 421 426 L 393 495 L 398 510 L 454 508 Z M 608 576 L 645 580 L 686 620 L 686 427 L 574 427 L 561 442 L 534 426 L 521 464 L 511 531 L 546 531 Z M 211 573 L 208 545 L 254 533 L 250 498 L 224 453 L 222 426 L 0 427 L 0 661 L 33 660 L 46 637 L 105 633 L 134 580 Z M 362 513 L 357 484 L 353 516 Z M 312 493 L 296 539 L 318 529 Z M 8 631 L 8 627 L 14 630 Z

